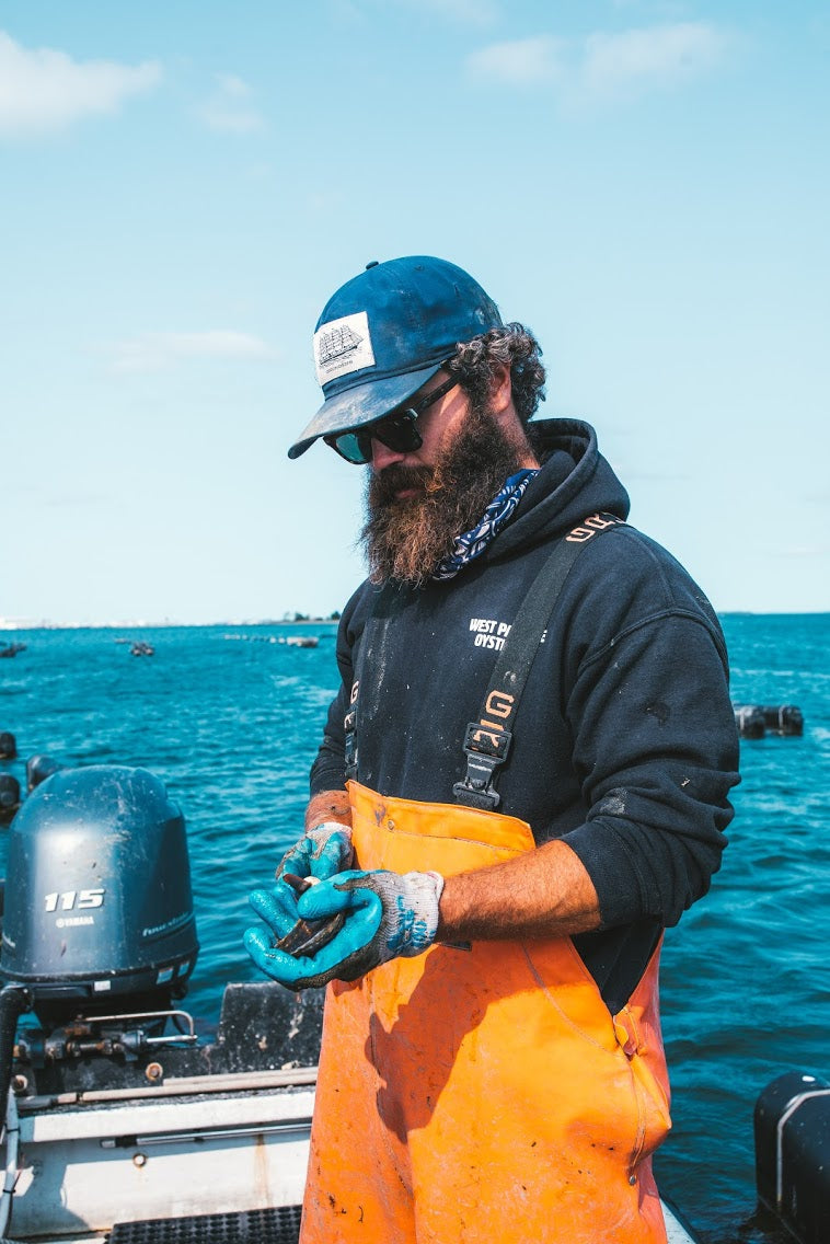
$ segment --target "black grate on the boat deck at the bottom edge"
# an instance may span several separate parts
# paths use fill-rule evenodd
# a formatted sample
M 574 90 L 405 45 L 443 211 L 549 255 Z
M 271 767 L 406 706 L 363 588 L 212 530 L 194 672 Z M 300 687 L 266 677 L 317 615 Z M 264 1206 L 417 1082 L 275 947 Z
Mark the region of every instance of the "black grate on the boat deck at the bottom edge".
M 297 1244 L 300 1205 L 116 1223 L 108 1244 Z

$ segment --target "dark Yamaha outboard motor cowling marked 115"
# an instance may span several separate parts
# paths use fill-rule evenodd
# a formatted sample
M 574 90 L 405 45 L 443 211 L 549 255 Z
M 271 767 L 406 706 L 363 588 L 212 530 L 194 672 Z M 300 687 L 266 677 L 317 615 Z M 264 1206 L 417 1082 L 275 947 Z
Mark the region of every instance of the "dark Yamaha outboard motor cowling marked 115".
M 9 830 L 0 977 L 41 1023 L 164 1009 L 197 960 L 184 817 L 146 769 L 62 769 Z

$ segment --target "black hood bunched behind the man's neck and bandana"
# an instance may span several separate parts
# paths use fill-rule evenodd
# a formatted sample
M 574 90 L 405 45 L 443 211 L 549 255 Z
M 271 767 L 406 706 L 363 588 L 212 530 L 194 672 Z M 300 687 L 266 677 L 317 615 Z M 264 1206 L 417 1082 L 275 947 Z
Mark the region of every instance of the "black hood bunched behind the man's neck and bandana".
M 560 536 L 591 514 L 627 519 L 631 509 L 590 423 L 538 419 L 529 428 L 541 470 L 528 485 L 513 521 L 493 542 L 492 560 Z

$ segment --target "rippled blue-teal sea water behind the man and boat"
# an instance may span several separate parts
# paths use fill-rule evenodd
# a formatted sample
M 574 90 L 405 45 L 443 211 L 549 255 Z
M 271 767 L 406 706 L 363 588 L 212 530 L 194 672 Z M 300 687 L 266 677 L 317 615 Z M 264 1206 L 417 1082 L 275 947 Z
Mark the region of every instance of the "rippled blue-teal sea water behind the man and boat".
M 711 893 L 666 937 L 664 1036 L 674 1130 L 661 1188 L 707 1244 L 770 1244 L 755 1217 L 753 1107 L 784 1071 L 830 1077 L 830 615 L 723 618 L 733 700 L 796 704 L 801 738 L 742 743 L 730 846 Z M 316 648 L 280 643 L 315 634 Z M 297 836 L 329 700 L 331 623 L 30 631 L 0 661 L 0 730 L 19 759 L 141 765 L 188 824 L 202 952 L 188 1009 L 218 1019 L 254 980 L 246 894 Z M 152 657 L 133 657 L 141 638 Z M 0 868 L 5 866 L 0 830 Z

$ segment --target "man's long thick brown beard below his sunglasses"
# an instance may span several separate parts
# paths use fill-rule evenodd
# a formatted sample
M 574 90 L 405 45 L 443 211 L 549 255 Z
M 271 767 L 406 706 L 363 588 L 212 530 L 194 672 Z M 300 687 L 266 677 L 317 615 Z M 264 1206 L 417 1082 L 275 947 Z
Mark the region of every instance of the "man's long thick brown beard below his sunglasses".
M 434 466 L 393 464 L 370 473 L 360 540 L 372 582 L 426 583 L 455 537 L 478 522 L 520 465 L 520 447 L 489 411 L 478 409 L 470 411 Z M 417 496 L 398 499 L 402 489 L 417 489 Z

